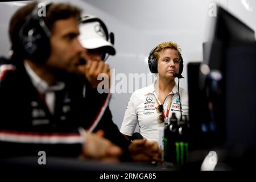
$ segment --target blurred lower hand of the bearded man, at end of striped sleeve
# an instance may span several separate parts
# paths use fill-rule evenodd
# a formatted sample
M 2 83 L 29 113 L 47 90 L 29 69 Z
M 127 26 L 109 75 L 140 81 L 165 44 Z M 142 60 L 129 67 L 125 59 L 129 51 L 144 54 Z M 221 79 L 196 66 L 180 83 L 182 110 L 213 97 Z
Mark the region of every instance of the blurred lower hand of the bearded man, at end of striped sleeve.
M 97 133 L 86 133 L 86 140 L 80 158 L 118 162 L 122 149 L 108 139 L 103 138 L 102 130 Z

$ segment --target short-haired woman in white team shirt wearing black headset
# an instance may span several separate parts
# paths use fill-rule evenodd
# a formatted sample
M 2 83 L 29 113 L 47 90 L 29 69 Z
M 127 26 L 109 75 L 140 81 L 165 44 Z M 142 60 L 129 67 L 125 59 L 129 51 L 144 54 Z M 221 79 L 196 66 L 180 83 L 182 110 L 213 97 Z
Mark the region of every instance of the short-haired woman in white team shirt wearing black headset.
M 188 115 L 188 94 L 175 82 L 175 77 L 182 77 L 183 71 L 179 46 L 173 42 L 159 44 L 150 52 L 148 66 L 152 73 L 158 73 L 156 81 L 131 95 L 120 131 L 130 140 L 138 124 L 143 138 L 160 144 L 159 131 L 171 115 L 175 113 L 177 119 L 181 113 Z

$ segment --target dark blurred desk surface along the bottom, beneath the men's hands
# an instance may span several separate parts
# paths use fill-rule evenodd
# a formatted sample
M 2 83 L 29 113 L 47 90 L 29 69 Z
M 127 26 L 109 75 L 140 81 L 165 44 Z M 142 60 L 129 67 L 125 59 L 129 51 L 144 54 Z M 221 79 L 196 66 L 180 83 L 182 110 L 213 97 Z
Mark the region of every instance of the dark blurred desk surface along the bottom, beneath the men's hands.
M 59 158 L 48 156 L 46 165 L 38 164 L 38 157 L 0 159 L 0 166 L 6 169 L 46 169 L 46 170 L 84 170 L 84 171 L 176 171 L 179 168 L 170 163 L 150 164 L 135 162 L 106 163 L 96 160 L 80 160 L 76 158 Z

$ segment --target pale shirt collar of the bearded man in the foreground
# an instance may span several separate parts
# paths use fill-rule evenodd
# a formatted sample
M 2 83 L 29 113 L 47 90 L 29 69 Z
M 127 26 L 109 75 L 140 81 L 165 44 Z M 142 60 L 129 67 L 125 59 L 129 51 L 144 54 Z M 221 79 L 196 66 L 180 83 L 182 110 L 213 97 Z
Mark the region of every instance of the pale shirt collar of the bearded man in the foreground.
M 47 82 L 42 80 L 36 73 L 32 70 L 30 65 L 28 65 L 26 62 L 24 62 L 24 67 L 28 73 L 28 76 L 30 77 L 32 84 L 35 86 L 35 88 L 40 93 L 46 93 L 47 91 L 58 91 L 64 89 L 64 82 L 56 82 L 55 85 L 48 86 Z

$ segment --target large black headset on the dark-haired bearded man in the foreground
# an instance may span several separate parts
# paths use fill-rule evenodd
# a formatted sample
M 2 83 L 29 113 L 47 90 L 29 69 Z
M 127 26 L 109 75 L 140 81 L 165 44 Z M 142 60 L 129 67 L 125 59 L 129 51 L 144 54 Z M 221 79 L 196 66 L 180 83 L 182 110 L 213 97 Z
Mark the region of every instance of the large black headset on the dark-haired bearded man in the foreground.
M 27 16 L 26 22 L 20 27 L 19 45 L 24 58 L 43 64 L 51 54 L 49 42 L 51 31 L 46 26 L 43 17 L 38 14 L 39 3 L 36 3 L 31 14 Z M 44 5 L 47 9 L 51 2 L 45 2 Z

